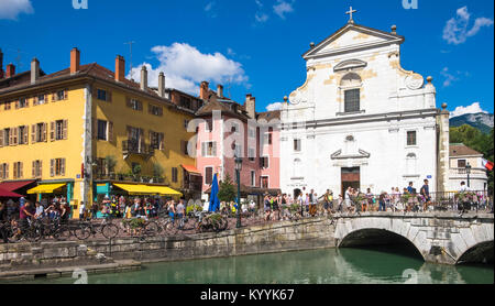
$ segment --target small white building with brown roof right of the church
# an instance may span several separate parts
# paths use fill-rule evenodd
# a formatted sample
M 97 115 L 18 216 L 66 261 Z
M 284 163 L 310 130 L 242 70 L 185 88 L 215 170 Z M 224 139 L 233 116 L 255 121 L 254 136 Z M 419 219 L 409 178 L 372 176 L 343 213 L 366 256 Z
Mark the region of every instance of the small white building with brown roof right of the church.
M 452 143 L 450 145 L 450 171 L 449 171 L 449 192 L 459 192 L 461 182 L 464 182 L 471 190 L 487 190 L 488 176 L 483 166 L 483 154 L 462 144 Z M 468 168 L 470 170 L 470 179 L 468 181 Z

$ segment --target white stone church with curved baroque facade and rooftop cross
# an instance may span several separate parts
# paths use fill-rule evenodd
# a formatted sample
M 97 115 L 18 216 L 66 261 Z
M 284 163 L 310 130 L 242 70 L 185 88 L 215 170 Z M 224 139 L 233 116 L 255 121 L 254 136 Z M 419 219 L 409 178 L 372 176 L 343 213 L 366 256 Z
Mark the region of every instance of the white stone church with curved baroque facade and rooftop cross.
M 352 9 L 351 9 L 352 11 Z M 280 187 L 336 196 L 348 186 L 372 193 L 444 190 L 449 112 L 436 107 L 432 79 L 400 66 L 405 37 L 352 20 L 302 55 L 306 83 L 282 108 Z

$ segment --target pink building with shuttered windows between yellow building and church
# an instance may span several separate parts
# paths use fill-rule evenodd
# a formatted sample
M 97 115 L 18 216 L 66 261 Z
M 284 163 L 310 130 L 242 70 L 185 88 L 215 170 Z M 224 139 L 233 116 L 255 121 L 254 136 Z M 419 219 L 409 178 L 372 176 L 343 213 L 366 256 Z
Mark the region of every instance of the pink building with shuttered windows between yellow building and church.
M 213 91 L 201 83 L 205 101 L 197 114 L 196 165 L 204 177 L 207 193 L 213 175 L 219 181 L 230 176 L 235 184 L 235 155 L 243 159 L 242 197 L 279 192 L 279 111 L 255 111 L 255 98 L 246 95 L 244 105 L 223 96 L 223 88 Z

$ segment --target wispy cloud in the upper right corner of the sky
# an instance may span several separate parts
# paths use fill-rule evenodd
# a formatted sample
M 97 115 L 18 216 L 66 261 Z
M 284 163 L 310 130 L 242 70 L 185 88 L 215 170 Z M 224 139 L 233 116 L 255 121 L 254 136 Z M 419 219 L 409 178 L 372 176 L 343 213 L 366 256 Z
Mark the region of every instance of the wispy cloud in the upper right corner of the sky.
M 476 35 L 483 26 L 493 25 L 493 20 L 487 18 L 477 18 L 471 30 L 468 30 L 470 19 L 471 14 L 468 12 L 468 7 L 458 9 L 457 17 L 450 19 L 443 29 L 443 40 L 446 40 L 449 44 L 459 45 L 465 43 L 468 37 Z

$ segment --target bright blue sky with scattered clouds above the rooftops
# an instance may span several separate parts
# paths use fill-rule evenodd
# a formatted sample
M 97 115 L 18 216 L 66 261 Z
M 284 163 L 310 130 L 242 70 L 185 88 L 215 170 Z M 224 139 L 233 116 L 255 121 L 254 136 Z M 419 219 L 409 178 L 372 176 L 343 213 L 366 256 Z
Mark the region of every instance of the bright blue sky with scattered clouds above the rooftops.
M 162 70 L 167 87 L 194 95 L 208 80 L 265 111 L 305 83 L 301 55 L 348 22 L 350 6 L 358 24 L 397 25 L 402 66 L 433 77 L 438 107 L 494 112 L 491 0 L 0 0 L 0 48 L 4 66 L 26 70 L 36 57 L 50 74 L 69 66 L 73 47 L 82 64 L 113 70 L 119 54 L 129 65 L 134 42 L 134 79 L 146 65 L 152 86 Z

